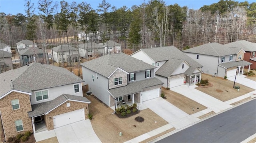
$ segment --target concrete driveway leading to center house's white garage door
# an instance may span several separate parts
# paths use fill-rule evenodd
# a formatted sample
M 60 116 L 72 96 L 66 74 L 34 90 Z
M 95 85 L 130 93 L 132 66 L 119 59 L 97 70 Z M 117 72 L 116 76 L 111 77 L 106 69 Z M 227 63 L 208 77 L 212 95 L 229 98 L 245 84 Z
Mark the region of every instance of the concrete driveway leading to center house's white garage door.
M 148 107 L 176 129 L 186 127 L 187 125 L 200 120 L 194 116 L 188 115 L 186 112 L 180 110 L 161 97 L 145 101 L 142 105 Z

